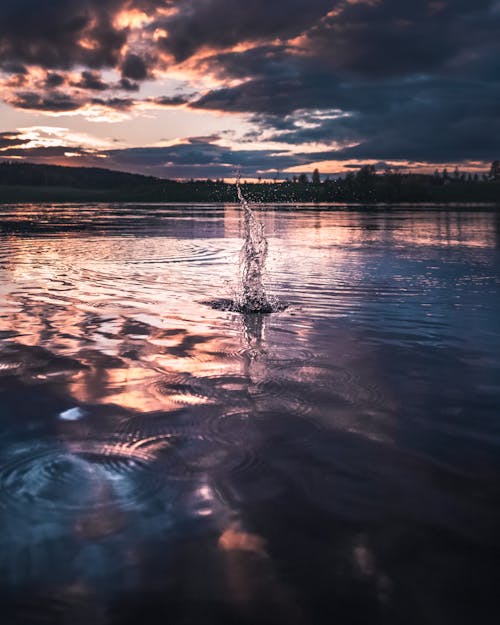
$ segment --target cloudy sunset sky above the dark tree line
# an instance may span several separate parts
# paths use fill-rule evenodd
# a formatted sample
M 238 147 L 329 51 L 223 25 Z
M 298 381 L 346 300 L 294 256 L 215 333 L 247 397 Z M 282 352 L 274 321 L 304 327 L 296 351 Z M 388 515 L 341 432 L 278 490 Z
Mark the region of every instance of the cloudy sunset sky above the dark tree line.
M 0 160 L 473 172 L 499 137 L 500 0 L 0 0 Z

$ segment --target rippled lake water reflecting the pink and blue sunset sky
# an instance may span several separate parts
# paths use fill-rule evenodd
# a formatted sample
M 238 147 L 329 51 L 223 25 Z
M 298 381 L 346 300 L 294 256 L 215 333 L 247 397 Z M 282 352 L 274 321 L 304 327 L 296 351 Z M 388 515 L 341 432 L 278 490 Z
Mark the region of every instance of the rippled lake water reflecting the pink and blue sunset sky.
M 498 623 L 500 213 L 0 207 L 0 622 Z

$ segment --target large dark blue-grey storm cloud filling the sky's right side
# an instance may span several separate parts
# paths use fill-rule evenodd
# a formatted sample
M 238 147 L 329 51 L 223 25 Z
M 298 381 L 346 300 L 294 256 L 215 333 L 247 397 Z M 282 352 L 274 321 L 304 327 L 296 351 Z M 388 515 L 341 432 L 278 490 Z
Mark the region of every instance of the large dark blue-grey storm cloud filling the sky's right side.
M 345 4 L 297 42 L 302 54 L 286 46 L 214 54 L 219 75 L 247 80 L 192 106 L 253 113 L 291 145 L 359 143 L 332 159 L 498 158 L 500 11 L 492 6 Z M 308 120 L 332 109 L 346 115 Z

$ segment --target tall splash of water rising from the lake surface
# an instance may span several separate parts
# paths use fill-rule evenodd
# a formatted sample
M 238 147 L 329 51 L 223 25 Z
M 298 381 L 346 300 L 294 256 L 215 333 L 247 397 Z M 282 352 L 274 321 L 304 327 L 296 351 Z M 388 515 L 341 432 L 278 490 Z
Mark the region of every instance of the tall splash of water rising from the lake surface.
M 263 284 L 267 258 L 267 239 L 264 225 L 257 219 L 250 204 L 245 199 L 236 179 L 238 200 L 244 215 L 244 243 L 240 253 L 240 292 L 237 308 L 244 313 L 272 312 L 273 306 L 267 298 Z

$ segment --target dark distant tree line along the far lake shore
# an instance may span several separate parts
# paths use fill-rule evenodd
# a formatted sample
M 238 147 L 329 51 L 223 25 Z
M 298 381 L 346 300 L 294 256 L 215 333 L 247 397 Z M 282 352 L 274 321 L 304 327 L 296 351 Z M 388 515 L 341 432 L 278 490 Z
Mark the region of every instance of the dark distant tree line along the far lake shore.
M 322 180 L 315 169 L 284 181 L 244 183 L 259 202 L 500 202 L 500 161 L 488 173 L 377 173 L 372 165 Z M 2 201 L 235 202 L 234 184 L 224 180 L 178 182 L 99 168 L 25 162 L 0 163 Z

